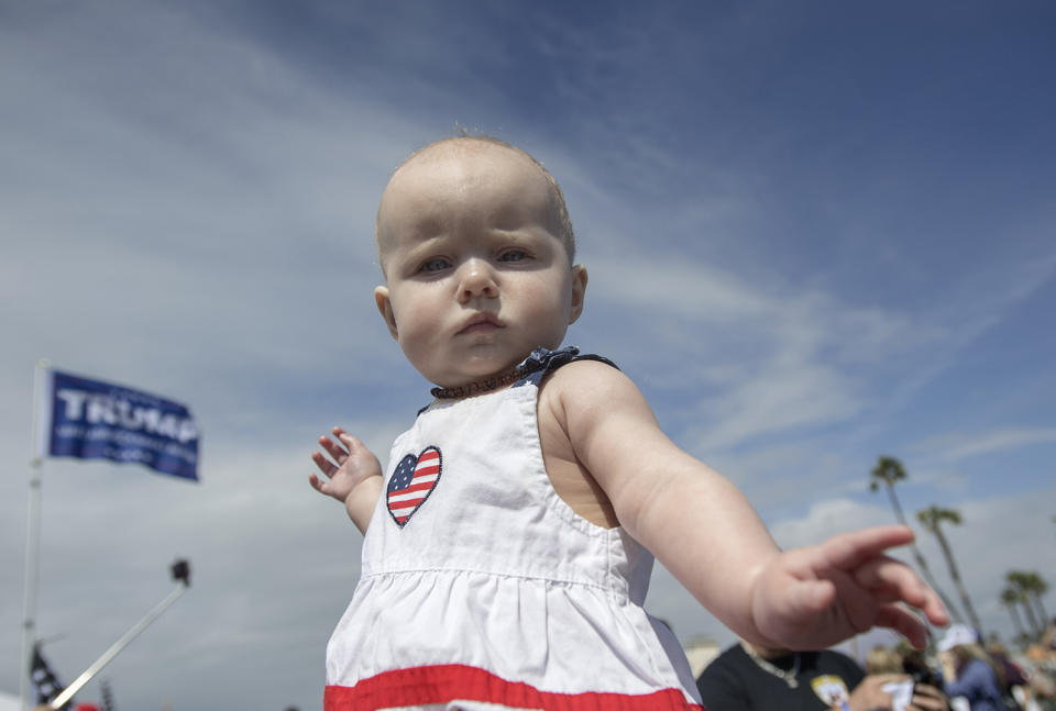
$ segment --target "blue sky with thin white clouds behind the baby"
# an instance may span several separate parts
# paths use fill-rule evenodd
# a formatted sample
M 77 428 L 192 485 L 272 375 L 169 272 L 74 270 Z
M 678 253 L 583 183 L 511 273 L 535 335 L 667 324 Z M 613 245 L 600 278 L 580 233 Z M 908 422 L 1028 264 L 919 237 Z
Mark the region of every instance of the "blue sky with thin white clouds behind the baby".
M 318 707 L 360 537 L 307 455 L 340 423 L 384 458 L 428 397 L 374 310 L 373 215 L 457 124 L 561 181 L 591 275 L 569 342 L 779 543 L 889 522 L 868 473 L 895 455 L 906 511 L 965 515 L 1008 634 L 1004 573 L 1056 582 L 1054 30 L 1042 2 L 0 2 L 0 658 L 47 357 L 204 431 L 198 486 L 45 464 L 61 673 L 187 556 L 195 587 L 101 675 L 117 703 Z M 662 570 L 648 607 L 732 638 Z

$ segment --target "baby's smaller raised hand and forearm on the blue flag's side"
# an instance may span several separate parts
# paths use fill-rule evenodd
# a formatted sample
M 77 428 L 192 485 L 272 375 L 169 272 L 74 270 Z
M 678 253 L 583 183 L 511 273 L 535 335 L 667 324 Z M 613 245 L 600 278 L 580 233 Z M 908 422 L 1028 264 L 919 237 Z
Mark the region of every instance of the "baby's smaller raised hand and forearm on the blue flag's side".
M 352 523 L 360 533 L 365 533 L 382 493 L 382 465 L 356 437 L 341 427 L 334 427 L 332 432 L 338 442 L 322 435 L 319 446 L 326 454 L 311 453 L 311 460 L 326 479 L 309 474 L 308 482 L 319 493 L 343 502 Z

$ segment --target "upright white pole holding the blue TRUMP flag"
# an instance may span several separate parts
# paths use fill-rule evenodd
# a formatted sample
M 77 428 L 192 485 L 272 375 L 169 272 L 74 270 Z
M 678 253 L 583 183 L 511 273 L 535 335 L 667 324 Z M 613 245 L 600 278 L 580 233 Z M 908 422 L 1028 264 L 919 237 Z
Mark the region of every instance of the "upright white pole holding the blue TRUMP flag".
M 22 601 L 22 654 L 19 656 L 19 702 L 22 711 L 30 709 L 30 666 L 35 641 L 36 582 L 40 568 L 41 538 L 41 431 L 40 407 L 45 396 L 44 380 L 51 364 L 41 359 L 33 371 L 33 424 L 30 434 L 30 502 L 25 514 L 25 589 Z

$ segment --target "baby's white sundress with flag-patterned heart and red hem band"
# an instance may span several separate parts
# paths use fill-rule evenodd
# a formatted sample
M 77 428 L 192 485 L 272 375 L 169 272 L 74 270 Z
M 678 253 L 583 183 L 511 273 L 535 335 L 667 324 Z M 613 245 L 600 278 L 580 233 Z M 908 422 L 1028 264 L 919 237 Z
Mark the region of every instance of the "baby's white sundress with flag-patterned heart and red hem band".
M 576 354 L 537 351 L 516 385 L 437 401 L 397 437 L 326 711 L 700 709 L 641 608 L 652 555 L 574 513 L 543 467 L 538 385 Z

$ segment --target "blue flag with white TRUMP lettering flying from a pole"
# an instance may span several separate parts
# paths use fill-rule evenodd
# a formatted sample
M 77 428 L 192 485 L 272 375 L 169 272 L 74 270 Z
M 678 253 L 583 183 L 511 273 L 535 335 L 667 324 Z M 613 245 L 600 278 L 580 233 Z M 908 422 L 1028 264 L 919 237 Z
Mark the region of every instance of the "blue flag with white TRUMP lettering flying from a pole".
M 123 386 L 47 371 L 41 454 L 142 464 L 198 480 L 198 430 L 172 400 Z

